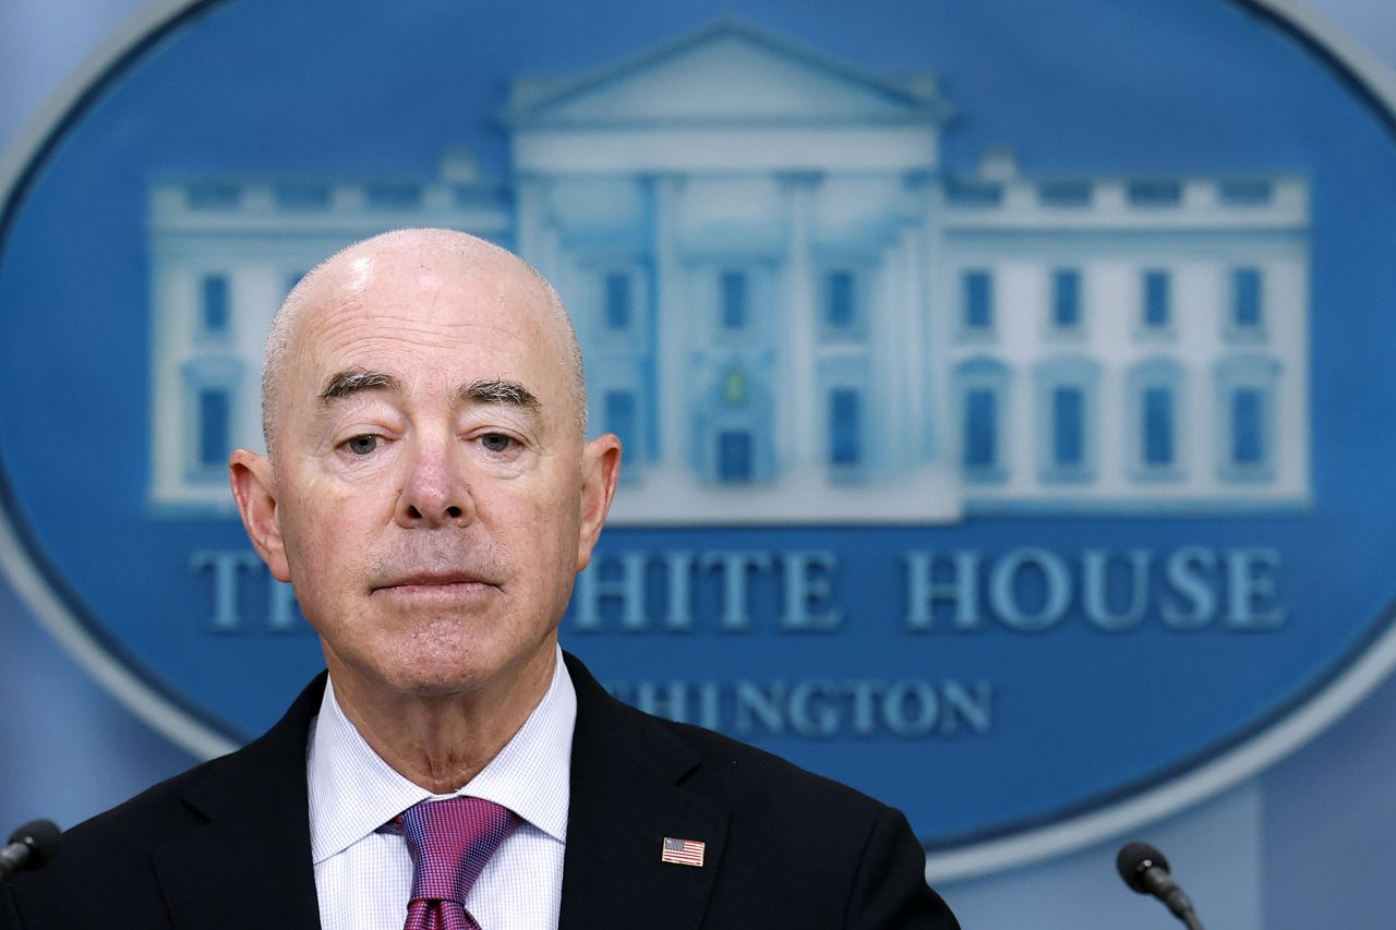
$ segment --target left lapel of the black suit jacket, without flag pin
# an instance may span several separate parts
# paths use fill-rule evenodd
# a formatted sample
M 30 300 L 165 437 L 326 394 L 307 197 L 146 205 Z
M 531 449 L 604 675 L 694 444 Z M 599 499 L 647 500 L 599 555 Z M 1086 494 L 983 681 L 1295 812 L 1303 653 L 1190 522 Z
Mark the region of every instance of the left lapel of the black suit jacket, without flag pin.
M 320 930 L 306 739 L 324 676 L 265 736 L 184 792 L 205 822 L 154 852 L 174 927 Z

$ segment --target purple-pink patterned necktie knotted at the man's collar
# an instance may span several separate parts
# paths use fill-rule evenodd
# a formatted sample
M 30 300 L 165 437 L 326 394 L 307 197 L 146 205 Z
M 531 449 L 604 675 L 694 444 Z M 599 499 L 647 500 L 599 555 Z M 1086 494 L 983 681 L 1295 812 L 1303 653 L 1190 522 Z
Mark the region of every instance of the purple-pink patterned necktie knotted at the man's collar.
M 403 930 L 480 930 L 465 896 L 518 825 L 514 811 L 479 797 L 422 802 L 405 810 L 402 835 L 413 876 Z

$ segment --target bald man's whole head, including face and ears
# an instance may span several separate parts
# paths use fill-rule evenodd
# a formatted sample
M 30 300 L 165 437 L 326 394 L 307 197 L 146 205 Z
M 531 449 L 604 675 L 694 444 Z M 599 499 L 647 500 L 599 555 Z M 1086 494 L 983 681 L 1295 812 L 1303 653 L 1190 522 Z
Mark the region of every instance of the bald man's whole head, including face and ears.
M 496 246 L 402 230 L 307 275 L 268 341 L 268 455 L 230 472 L 336 680 L 448 695 L 551 662 L 620 466 L 584 406 L 557 295 Z

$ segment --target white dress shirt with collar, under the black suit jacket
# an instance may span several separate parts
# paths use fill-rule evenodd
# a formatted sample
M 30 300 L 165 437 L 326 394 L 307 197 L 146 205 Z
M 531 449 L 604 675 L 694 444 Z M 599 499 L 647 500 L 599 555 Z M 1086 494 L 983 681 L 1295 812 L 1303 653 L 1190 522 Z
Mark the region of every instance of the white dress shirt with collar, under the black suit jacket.
M 465 899 L 483 930 L 557 927 L 567 845 L 568 775 L 577 691 L 557 651 L 553 681 L 528 721 L 456 792 L 522 818 Z M 380 829 L 433 795 L 392 769 L 345 718 L 331 684 L 311 723 L 310 852 L 324 930 L 402 930 L 412 857 L 398 832 Z

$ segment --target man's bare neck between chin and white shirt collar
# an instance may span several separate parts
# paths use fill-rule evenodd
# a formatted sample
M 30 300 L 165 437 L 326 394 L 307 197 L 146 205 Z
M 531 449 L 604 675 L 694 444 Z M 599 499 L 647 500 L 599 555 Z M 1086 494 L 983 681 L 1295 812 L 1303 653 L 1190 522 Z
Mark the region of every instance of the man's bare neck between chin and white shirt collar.
M 345 718 L 394 771 L 433 795 L 458 790 L 500 754 L 543 700 L 557 663 L 549 648 L 505 681 L 420 694 L 366 681 L 327 659 Z

